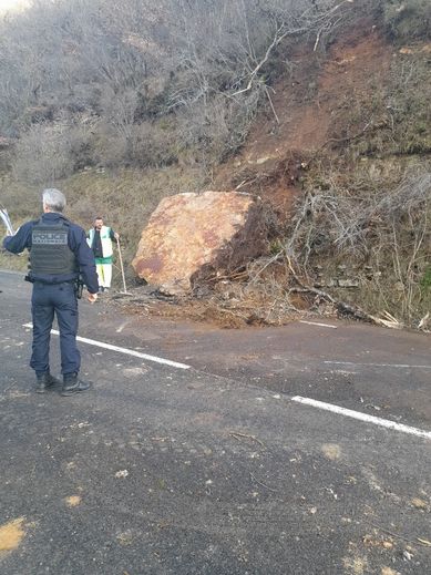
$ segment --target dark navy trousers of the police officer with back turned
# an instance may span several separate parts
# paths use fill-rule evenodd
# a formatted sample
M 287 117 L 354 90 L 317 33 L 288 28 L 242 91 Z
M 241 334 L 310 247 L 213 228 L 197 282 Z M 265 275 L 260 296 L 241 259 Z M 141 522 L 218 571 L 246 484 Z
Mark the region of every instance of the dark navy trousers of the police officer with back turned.
M 39 373 L 49 370 L 50 335 L 54 315 L 60 330 L 61 372 L 80 370 L 81 356 L 76 348 L 78 300 L 73 284 L 33 284 L 31 298 L 33 317 L 33 353 L 30 367 Z

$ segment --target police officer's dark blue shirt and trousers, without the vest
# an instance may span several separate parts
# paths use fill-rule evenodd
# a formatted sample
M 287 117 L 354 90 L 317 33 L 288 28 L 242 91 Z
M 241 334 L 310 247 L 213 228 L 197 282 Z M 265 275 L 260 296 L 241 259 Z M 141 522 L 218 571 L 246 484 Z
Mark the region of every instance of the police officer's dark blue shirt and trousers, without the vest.
M 32 232 L 38 224 L 68 226 L 68 245 L 76 260 L 76 271 L 65 275 L 31 275 L 33 294 L 31 311 L 33 317 L 33 348 L 30 366 L 37 374 L 49 371 L 50 333 L 54 315 L 60 329 L 61 372 L 78 373 L 81 356 L 76 348 L 78 300 L 74 283 L 81 274 L 91 294 L 99 290 L 94 256 L 86 244 L 85 232 L 69 222 L 62 214 L 49 212 L 41 220 L 28 222 L 14 236 L 3 239 L 3 247 L 12 254 L 20 254 L 25 248 L 31 250 Z

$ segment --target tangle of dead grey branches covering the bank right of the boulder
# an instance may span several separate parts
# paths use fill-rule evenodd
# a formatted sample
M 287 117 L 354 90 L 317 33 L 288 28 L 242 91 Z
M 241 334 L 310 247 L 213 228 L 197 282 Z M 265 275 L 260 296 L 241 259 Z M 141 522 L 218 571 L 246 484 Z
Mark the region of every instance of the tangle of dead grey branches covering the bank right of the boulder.
M 285 244 L 290 267 L 300 270 L 298 286 L 340 312 L 397 329 L 418 326 L 430 297 L 431 172 L 413 168 L 389 189 L 382 179 L 359 185 L 349 187 L 348 178 L 329 173 L 320 187 L 306 186 Z M 314 266 L 333 260 L 367 264 L 368 283 L 360 285 L 377 294 L 369 312 L 311 286 Z

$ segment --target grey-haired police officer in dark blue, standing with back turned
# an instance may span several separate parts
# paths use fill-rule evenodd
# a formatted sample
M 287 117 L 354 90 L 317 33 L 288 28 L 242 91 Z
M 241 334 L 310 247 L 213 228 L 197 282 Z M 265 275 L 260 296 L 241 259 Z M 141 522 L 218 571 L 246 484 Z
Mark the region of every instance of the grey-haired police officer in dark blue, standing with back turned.
M 12 254 L 30 250 L 30 273 L 25 279 L 33 284 L 31 312 L 33 346 L 30 367 L 37 376 L 38 393 L 59 383 L 50 373 L 49 350 L 51 327 L 57 315 L 60 328 L 62 396 L 86 391 L 90 383 L 79 379 L 81 356 L 76 348 L 78 299 L 76 283 L 82 276 L 89 294 L 98 299 L 99 284 L 94 257 L 85 239 L 85 232 L 66 219 L 62 212 L 65 197 L 59 189 L 44 189 L 43 215 L 28 222 L 14 236 L 3 239 L 3 247 Z

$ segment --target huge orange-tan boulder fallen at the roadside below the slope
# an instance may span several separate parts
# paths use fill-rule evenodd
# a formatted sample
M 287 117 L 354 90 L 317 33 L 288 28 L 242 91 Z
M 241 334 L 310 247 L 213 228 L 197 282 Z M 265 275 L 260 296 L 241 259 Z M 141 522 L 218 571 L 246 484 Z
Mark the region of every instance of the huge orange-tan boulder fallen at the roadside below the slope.
M 185 294 L 267 250 L 261 202 L 238 192 L 162 199 L 142 232 L 132 266 L 165 292 Z

